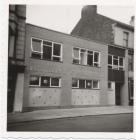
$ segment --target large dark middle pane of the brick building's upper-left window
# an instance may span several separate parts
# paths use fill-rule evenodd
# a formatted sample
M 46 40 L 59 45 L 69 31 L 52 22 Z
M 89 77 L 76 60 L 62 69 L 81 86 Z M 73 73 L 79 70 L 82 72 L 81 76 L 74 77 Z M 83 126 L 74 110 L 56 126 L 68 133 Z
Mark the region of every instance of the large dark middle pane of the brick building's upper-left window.
M 43 59 L 45 60 L 51 60 L 52 56 L 52 47 L 49 46 L 43 46 Z

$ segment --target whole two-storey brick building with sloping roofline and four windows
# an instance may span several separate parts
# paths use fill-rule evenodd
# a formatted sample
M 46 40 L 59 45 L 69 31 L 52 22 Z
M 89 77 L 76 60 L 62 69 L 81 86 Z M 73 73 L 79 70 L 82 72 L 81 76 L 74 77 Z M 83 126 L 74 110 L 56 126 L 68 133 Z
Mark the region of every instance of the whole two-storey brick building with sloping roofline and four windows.
M 26 25 L 23 109 L 107 105 L 108 46 Z

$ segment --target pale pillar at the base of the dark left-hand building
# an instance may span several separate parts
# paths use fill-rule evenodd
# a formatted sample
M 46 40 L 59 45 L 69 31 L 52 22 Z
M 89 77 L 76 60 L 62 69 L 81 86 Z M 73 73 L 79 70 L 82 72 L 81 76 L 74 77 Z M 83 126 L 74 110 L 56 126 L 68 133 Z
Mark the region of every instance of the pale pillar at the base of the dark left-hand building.
M 23 91 L 24 91 L 24 73 L 18 73 L 16 90 L 15 90 L 15 101 L 14 101 L 14 112 L 21 112 L 23 107 Z

